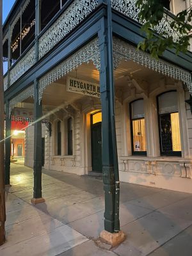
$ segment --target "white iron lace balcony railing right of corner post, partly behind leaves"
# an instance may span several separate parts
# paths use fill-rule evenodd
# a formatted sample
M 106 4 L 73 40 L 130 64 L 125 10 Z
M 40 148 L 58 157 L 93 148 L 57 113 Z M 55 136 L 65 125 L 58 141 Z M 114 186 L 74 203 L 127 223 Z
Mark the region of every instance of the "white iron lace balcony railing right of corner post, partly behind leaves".
M 111 6 L 118 10 L 118 12 L 124 13 L 131 19 L 141 23 L 138 17 L 139 9 L 136 7 L 136 1 L 137 0 L 111 0 Z M 166 31 L 167 36 L 173 36 L 173 41 L 177 42 L 179 35 L 171 28 L 171 22 L 173 22 L 173 18 L 164 13 L 163 19 L 155 27 L 155 30 L 157 33 Z

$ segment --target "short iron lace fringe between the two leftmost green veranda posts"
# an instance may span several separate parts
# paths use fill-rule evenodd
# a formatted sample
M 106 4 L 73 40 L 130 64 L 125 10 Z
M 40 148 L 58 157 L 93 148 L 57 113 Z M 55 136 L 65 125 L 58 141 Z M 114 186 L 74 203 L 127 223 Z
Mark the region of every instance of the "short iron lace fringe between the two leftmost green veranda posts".
M 12 109 L 17 106 L 19 102 L 23 102 L 24 100 L 28 99 L 29 97 L 34 97 L 34 87 L 33 84 L 20 92 L 17 96 L 9 102 L 9 116 L 11 116 Z

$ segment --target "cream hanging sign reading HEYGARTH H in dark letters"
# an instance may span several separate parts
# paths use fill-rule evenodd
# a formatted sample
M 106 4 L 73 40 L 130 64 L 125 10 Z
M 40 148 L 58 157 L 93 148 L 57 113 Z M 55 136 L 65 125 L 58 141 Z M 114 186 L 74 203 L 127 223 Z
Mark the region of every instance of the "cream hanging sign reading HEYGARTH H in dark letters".
M 100 98 L 100 85 L 68 76 L 67 92 Z

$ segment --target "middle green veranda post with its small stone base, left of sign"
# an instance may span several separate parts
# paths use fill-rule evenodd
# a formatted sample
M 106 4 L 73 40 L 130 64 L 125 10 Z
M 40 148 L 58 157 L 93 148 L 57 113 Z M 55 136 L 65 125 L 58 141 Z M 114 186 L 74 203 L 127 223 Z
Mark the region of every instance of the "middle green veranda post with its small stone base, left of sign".
M 34 188 L 32 204 L 45 202 L 42 198 L 42 102 L 38 100 L 38 81 L 34 81 Z

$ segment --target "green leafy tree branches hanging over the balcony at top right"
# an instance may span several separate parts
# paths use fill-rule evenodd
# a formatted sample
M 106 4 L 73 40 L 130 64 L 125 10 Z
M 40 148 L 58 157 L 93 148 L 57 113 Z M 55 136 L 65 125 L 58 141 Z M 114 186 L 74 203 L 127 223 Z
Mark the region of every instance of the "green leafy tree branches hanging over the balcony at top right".
M 146 38 L 138 44 L 138 48 L 149 51 L 154 58 L 161 56 L 167 47 L 174 48 L 176 53 L 186 52 L 189 47 L 189 32 L 192 30 L 192 6 L 178 13 L 173 19 L 164 19 L 168 10 L 163 6 L 163 0 L 138 0 L 136 6 L 139 8 L 139 17 L 143 26 L 141 31 Z M 159 33 L 157 26 L 159 22 L 167 22 L 173 29 L 173 35 L 169 35 L 164 29 Z

